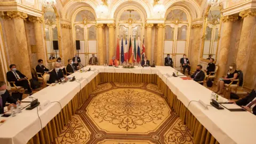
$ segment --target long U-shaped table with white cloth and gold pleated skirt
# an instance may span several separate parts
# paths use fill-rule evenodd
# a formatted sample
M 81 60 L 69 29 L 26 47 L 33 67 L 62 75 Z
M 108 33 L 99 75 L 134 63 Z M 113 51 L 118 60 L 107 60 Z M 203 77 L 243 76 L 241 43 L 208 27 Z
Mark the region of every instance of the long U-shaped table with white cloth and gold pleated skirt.
M 47 143 L 42 142 L 42 139 L 52 141 L 71 119 L 76 108 L 86 101 L 90 92 L 96 89 L 98 82 L 104 81 L 157 83 L 170 105 L 180 114 L 183 121 L 191 126 L 191 129 L 195 129 L 193 131 L 197 133 L 200 133 L 201 129 L 207 131 L 215 139 L 215 143 L 252 143 L 254 141 L 256 116 L 247 111 L 230 112 L 227 109 L 217 110 L 213 107 L 205 109 L 196 101 L 202 100 L 204 103 L 210 104 L 212 91 L 194 81 L 170 77 L 169 75 L 175 71 L 171 67 L 124 69 L 90 66 L 90 68 L 92 71 L 76 72 L 70 75 L 70 77 L 75 76 L 79 82 L 48 86 L 33 94 L 33 97 L 41 103 L 47 100 L 51 101 L 49 107 L 38 111 L 40 119 L 37 115 L 37 108 L 33 110 L 23 109 L 22 113 L 15 117 L 0 117 L 0 121 L 2 119 L 7 120 L 0 125 L 0 143 Z M 156 75 L 157 79 L 152 75 Z M 132 79 L 132 77 L 135 78 Z M 224 98 L 222 100 L 226 101 Z M 41 123 L 44 127 L 43 130 L 41 130 Z M 53 129 L 52 127 L 57 127 L 56 132 L 47 134 L 49 136 L 46 137 L 44 133 Z M 201 134 L 201 136 L 204 135 Z M 200 139 L 201 137 L 197 138 Z

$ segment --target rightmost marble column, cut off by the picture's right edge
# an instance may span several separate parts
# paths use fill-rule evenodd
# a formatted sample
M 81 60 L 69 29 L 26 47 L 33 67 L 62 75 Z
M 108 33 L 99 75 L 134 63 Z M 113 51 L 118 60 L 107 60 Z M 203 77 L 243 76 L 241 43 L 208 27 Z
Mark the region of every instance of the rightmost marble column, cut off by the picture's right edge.
M 241 11 L 239 15 L 243 18 L 243 26 L 237 50 L 236 65 L 237 69 L 243 71 L 244 86 L 253 87 L 255 77 L 255 68 L 253 68 L 255 63 L 253 60 L 256 47 L 252 44 L 255 43 L 256 9 Z

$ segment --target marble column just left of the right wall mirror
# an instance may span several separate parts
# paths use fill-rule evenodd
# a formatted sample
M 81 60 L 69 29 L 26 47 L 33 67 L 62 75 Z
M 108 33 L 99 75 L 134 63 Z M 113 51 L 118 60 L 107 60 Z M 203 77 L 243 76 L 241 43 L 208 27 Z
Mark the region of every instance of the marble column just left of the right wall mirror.
M 190 66 L 191 71 L 196 70 L 196 66 L 198 65 L 198 58 L 200 55 L 200 40 L 201 40 L 201 30 L 202 30 L 203 24 L 202 23 L 196 23 L 191 26 L 191 37 L 193 41 L 191 41 L 190 44 L 190 54 L 189 54 L 189 60 L 190 60 Z

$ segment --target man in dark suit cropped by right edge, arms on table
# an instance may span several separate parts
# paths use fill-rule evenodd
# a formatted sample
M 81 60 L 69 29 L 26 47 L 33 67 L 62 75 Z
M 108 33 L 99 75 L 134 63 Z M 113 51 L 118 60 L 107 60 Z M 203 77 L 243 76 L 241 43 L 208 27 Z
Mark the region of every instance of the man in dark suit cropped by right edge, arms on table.
M 247 111 L 249 111 L 250 113 L 253 113 L 254 115 L 256 115 L 256 84 L 254 86 L 254 90 L 252 90 L 252 92 L 247 95 L 245 98 L 240 99 L 238 101 L 234 101 L 234 100 L 230 100 L 229 102 L 232 102 L 238 106 L 242 106 L 244 109 L 246 109 Z

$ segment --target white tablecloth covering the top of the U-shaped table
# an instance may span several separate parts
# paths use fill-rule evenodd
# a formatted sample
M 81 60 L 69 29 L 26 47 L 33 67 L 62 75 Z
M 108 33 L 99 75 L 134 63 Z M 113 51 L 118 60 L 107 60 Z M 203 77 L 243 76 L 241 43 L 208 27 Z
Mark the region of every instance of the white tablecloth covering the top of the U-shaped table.
M 183 80 L 180 77 L 170 77 L 175 71 L 171 67 L 123 69 L 103 66 L 90 66 L 93 71 L 86 73 L 76 72 L 69 77 L 75 76 L 78 82 L 48 86 L 45 89 L 33 94 L 40 102 L 50 100 L 51 105 L 44 110 L 39 110 L 43 127 L 51 121 L 74 96 L 99 73 L 134 73 L 134 74 L 157 74 L 163 82 L 170 87 L 177 98 L 188 106 L 192 100 L 202 100 L 210 104 L 212 91 L 206 87 L 191 81 Z M 88 69 L 89 67 L 87 66 Z M 81 83 L 81 85 L 80 85 Z M 27 98 L 29 99 L 29 98 Z M 225 99 L 222 99 L 226 101 Z M 58 102 L 59 101 L 61 104 Z M 217 110 L 213 107 L 204 109 L 198 102 L 190 102 L 188 109 L 198 121 L 213 135 L 220 143 L 253 143 L 254 131 L 256 130 L 256 116 L 244 112 L 230 112 L 227 109 Z M 37 132 L 41 130 L 41 124 L 37 116 L 37 109 L 22 110 L 22 113 L 15 117 L 0 117 L 0 121 L 6 122 L 0 126 L 0 143 L 27 143 Z

